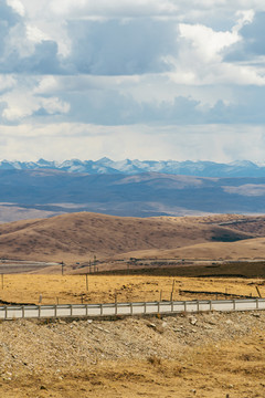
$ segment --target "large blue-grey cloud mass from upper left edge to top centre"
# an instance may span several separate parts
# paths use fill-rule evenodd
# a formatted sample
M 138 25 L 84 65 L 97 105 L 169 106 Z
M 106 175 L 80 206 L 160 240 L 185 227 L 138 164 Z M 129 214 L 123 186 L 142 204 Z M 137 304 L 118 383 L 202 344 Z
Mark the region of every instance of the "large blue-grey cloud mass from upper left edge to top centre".
M 9 8 L 4 10 L 3 14 L 7 14 L 9 22 L 20 23 L 19 31 L 25 34 L 23 21 L 15 19 Z M 0 22 L 0 54 L 9 46 L 10 27 L 11 22 Z M 67 28 L 72 40 L 68 57 L 60 57 L 57 43 L 50 40 L 35 44 L 30 56 L 22 56 L 17 49 L 8 48 L 0 72 L 91 75 L 160 73 L 170 69 L 163 57 L 177 55 L 177 30 L 173 22 L 149 19 L 126 22 L 78 20 L 70 21 Z

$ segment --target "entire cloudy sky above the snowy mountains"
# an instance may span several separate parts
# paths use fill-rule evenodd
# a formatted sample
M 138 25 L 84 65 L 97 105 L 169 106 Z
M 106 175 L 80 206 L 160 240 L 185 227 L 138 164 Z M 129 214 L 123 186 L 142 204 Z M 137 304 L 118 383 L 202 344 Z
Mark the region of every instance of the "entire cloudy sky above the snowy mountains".
M 265 164 L 264 0 L 0 0 L 0 159 Z

